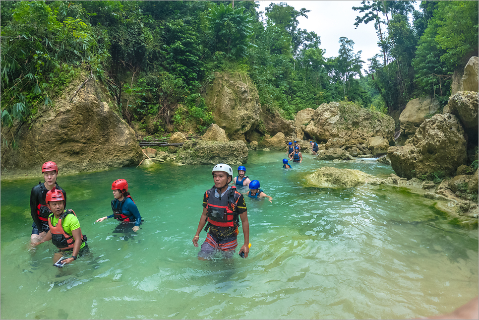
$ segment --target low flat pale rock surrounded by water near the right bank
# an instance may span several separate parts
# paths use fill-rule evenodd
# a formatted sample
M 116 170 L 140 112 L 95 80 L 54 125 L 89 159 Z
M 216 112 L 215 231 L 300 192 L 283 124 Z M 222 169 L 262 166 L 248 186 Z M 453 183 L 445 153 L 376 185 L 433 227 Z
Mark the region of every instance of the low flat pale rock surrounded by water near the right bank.
M 375 177 L 359 170 L 322 167 L 309 175 L 307 179 L 319 188 L 351 188 Z

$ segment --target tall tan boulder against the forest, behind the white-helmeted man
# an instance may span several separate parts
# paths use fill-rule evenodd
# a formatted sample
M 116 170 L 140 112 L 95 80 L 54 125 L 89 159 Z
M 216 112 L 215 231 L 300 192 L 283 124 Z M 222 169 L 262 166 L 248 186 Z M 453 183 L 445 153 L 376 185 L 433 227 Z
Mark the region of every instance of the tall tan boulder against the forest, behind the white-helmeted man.
M 259 124 L 258 90 L 247 75 L 216 72 L 215 76 L 206 88 L 206 105 L 230 140 L 244 140 L 244 133 Z

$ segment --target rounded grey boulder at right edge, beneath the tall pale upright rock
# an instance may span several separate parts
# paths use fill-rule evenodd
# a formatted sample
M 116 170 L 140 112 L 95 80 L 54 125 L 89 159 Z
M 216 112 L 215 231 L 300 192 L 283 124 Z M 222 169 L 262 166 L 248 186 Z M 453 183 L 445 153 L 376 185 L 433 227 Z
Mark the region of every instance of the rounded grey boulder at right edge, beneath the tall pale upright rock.
M 456 115 L 463 125 L 466 133 L 476 143 L 478 140 L 479 116 L 478 116 L 479 97 L 477 92 L 459 91 L 449 97 L 445 111 Z

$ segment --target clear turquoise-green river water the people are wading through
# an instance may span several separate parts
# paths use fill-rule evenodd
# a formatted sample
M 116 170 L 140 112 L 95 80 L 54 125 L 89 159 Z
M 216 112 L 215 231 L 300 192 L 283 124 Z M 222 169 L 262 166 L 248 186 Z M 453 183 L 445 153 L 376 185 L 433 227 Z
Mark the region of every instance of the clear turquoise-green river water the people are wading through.
M 273 203 L 246 198 L 247 259 L 196 258 L 191 240 L 212 166 L 60 175 L 91 249 L 62 269 L 52 265 L 51 243 L 28 250 L 39 179 L 2 182 L 1 318 L 406 319 L 451 312 L 478 295 L 478 230 L 451 224 L 405 189 L 305 187 L 321 166 L 384 178 L 393 171 L 371 160 L 303 157 L 284 170 L 284 153 L 250 152 L 247 175 Z M 114 219 L 94 223 L 111 214 L 111 183 L 120 178 L 145 220 L 129 237 L 112 233 Z

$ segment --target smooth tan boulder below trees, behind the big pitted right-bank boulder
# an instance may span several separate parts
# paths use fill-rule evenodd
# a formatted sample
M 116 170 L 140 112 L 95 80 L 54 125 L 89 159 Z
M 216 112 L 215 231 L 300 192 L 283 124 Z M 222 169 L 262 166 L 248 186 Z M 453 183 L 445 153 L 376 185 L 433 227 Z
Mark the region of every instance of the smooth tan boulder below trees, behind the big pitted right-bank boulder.
M 401 134 L 405 136 L 414 135 L 426 116 L 435 114 L 439 107 L 439 103 L 433 101 L 429 96 L 409 101 L 399 116 Z

